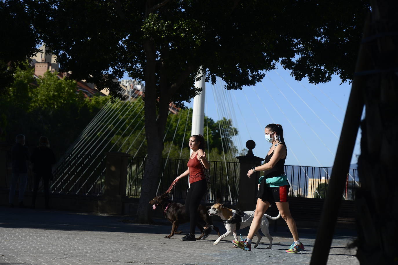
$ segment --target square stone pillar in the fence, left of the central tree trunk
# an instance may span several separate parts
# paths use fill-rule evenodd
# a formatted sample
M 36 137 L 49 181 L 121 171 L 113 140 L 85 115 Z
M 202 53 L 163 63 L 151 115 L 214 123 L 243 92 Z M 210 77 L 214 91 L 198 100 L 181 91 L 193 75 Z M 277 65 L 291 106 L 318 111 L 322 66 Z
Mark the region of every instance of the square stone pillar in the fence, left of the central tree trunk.
M 129 156 L 122 152 L 106 154 L 105 195 L 126 195 Z

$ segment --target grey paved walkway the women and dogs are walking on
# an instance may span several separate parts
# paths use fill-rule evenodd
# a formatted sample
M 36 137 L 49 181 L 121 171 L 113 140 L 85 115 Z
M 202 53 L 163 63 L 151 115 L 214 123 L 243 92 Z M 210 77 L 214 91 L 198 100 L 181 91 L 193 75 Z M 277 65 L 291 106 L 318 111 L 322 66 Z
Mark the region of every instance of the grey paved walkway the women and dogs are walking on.
M 308 264 L 315 242 L 314 230 L 300 229 L 305 250 L 288 254 L 292 239 L 287 231 L 272 232 L 273 248 L 267 238 L 250 251 L 232 248 L 232 236 L 217 246 L 217 234 L 207 240 L 184 242 L 183 235 L 168 235 L 170 225 L 123 222 L 129 216 L 85 214 L 58 210 L 0 207 L 0 264 Z M 225 232 L 222 223 L 215 223 Z M 271 223 L 272 226 L 272 223 Z M 282 230 L 282 225 L 278 230 Z M 187 231 L 188 225 L 181 225 Z M 242 230 L 246 235 L 247 228 Z M 328 264 L 359 264 L 355 250 L 347 244 L 352 231 L 336 231 Z

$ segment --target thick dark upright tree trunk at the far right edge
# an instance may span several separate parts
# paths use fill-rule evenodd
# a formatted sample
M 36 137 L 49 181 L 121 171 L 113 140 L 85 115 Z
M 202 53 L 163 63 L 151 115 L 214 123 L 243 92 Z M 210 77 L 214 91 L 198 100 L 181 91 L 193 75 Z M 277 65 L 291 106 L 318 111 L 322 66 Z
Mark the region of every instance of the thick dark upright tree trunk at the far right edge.
M 357 258 L 361 264 L 397 264 L 397 3 L 376 0 L 371 6 L 371 34 L 364 41 L 373 70 L 362 73 L 367 86 L 363 87 L 366 117 L 358 159 L 361 188 L 355 196 Z

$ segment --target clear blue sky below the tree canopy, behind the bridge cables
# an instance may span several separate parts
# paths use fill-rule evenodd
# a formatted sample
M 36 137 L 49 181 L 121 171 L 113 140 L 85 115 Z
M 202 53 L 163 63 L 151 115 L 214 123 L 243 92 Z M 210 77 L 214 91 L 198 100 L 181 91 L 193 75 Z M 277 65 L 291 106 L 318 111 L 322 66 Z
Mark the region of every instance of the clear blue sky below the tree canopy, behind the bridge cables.
M 252 139 L 256 142 L 254 155 L 260 157 L 265 157 L 270 147 L 264 127 L 273 122 L 281 124 L 288 147 L 287 165 L 332 167 L 351 91 L 351 85 L 340 83 L 338 76 L 316 86 L 306 79 L 297 82 L 282 68 L 242 90 L 222 92 L 222 84 L 213 87 L 207 83 L 205 114 L 217 121 L 226 116 L 223 113 L 229 113 L 239 131 L 236 145 L 245 147 Z M 360 132 L 351 164 L 357 162 L 360 153 L 359 137 Z

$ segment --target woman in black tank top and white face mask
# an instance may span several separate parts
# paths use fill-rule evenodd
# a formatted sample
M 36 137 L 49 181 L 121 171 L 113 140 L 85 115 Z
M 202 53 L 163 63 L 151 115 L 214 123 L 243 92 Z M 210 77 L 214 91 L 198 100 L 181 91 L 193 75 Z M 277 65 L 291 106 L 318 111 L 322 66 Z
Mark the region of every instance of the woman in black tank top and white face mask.
M 293 244 L 285 251 L 287 253 L 297 253 L 304 250 L 304 246 L 298 239 L 296 222 L 290 213 L 289 202 L 287 201 L 289 182 L 284 171 L 287 149 L 283 139 L 283 129 L 281 125 L 271 123 L 265 127 L 264 133 L 267 142 L 272 143 L 265 157 L 265 163 L 261 166 L 253 167 L 247 174 L 250 178 L 255 171 L 264 171 L 264 178 L 259 184 L 254 218 L 247 238 L 243 241 L 233 240 L 232 243 L 242 249 L 251 250 L 252 239 L 260 227 L 263 214 L 271 203 L 275 203 L 293 236 Z

